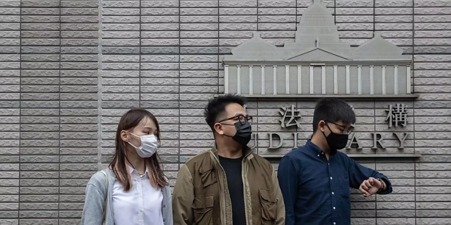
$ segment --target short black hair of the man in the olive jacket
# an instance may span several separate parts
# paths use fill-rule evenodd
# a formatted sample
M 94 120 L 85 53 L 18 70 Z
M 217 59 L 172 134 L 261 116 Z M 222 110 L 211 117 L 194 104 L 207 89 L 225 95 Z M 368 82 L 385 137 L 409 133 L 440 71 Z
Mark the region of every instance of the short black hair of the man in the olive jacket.
M 225 106 L 231 103 L 238 103 L 244 106 L 246 104 L 246 98 L 238 94 L 225 94 L 219 95 L 208 102 L 203 114 L 205 115 L 205 121 L 212 131 L 214 131 L 213 126 L 218 117 L 225 113 Z

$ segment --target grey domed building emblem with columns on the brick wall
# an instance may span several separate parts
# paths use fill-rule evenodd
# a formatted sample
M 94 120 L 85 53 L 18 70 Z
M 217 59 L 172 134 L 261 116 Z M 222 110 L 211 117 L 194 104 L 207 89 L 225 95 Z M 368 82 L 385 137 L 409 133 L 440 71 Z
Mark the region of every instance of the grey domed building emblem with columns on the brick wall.
M 357 47 L 341 42 L 329 9 L 314 0 L 301 17 L 294 41 L 277 47 L 254 32 L 224 55 L 224 93 L 412 97 L 411 56 L 402 53 L 377 31 Z

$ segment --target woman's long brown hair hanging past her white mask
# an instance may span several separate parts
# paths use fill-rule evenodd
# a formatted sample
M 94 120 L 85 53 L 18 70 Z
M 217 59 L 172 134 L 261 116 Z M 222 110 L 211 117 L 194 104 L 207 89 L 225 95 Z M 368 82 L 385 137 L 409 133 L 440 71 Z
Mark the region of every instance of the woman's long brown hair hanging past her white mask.
M 124 186 L 125 191 L 130 190 L 132 182 L 126 165 L 126 161 L 128 160 L 128 143 L 122 140 L 121 131 L 135 127 L 139 124 L 139 122 L 141 122 L 143 118 L 150 118 L 155 123 L 157 128 L 155 136 L 157 137 L 158 142 L 160 142 L 160 127 L 158 125 L 158 121 L 156 120 L 155 116 L 146 109 L 134 108 L 128 110 L 124 115 L 122 115 L 121 119 L 119 120 L 119 124 L 117 125 L 115 144 L 116 152 L 114 153 L 113 161 L 111 161 L 110 163 L 110 168 L 116 174 L 116 178 L 119 180 L 119 182 L 121 182 Z M 164 186 L 168 185 L 168 182 L 164 178 L 163 168 L 160 166 L 160 158 L 157 152 L 155 152 L 151 157 L 144 158 L 144 161 L 146 166 L 149 168 L 149 178 L 152 186 L 163 188 Z

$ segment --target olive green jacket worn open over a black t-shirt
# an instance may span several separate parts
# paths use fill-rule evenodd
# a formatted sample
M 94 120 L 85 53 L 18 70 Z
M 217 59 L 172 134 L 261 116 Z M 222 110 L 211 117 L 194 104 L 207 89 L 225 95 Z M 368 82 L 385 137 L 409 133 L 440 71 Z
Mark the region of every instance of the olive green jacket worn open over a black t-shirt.
M 285 205 L 273 165 L 244 150 L 242 177 L 247 225 L 285 224 Z M 174 224 L 232 225 L 232 204 L 215 147 L 189 159 L 172 194 Z

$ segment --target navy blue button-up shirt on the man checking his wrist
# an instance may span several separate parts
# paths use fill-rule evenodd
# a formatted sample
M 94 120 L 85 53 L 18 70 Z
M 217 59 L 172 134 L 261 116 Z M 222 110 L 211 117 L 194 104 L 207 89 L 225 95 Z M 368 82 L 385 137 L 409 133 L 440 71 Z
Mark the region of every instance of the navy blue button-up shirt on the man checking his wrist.
M 369 177 L 389 179 L 338 151 L 326 154 L 310 140 L 285 155 L 279 164 L 279 184 L 285 201 L 285 224 L 350 224 L 349 187 L 359 188 Z

